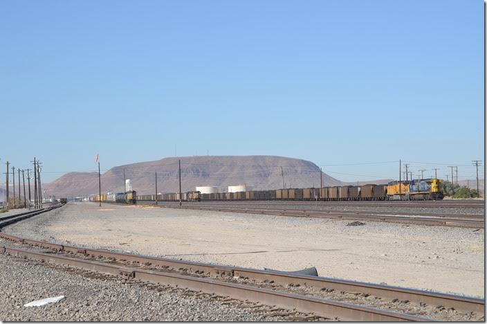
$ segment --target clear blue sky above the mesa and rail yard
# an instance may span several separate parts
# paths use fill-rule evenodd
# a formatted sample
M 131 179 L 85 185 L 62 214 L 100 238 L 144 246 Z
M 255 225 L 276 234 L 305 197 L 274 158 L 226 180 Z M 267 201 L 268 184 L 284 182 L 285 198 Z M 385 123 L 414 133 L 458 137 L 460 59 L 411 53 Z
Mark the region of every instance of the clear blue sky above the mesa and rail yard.
M 37 156 L 50 181 L 95 170 L 97 153 L 107 170 L 174 156 L 176 143 L 178 156 L 470 165 L 484 158 L 483 10 L 479 0 L 2 1 L 1 165 Z M 397 177 L 397 164 L 325 172 Z M 446 165 L 412 170 L 443 176 Z

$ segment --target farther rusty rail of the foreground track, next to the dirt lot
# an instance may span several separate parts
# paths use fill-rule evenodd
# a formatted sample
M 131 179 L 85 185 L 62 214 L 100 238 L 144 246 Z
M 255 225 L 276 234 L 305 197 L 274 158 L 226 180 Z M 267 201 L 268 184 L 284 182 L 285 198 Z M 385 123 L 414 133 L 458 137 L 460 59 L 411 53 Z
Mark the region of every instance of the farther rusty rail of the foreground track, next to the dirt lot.
M 136 262 L 139 264 L 147 264 L 154 267 L 173 269 L 175 271 L 192 271 L 194 273 L 204 273 L 205 275 L 211 276 L 213 278 L 233 278 L 235 276 L 238 276 L 261 282 L 263 282 L 264 280 L 272 280 L 279 285 L 299 284 L 303 287 L 313 287 L 317 290 L 335 289 L 338 291 L 369 294 L 386 299 L 398 298 L 400 300 L 409 300 L 410 302 L 418 304 L 425 303 L 428 305 L 454 308 L 462 310 L 464 312 L 476 312 L 484 314 L 485 300 L 479 298 L 470 298 L 452 294 L 442 294 L 431 291 L 423 291 L 419 289 L 376 285 L 353 280 L 340 280 L 335 278 L 305 276 L 295 273 L 286 273 L 282 271 L 229 267 L 216 264 L 205 264 L 200 262 L 174 260 L 169 258 L 156 258 L 146 255 L 105 251 L 100 249 L 86 249 L 82 247 L 66 246 L 62 244 L 54 244 L 38 240 L 28 240 L 1 232 L 0 237 L 19 242 L 21 244 L 40 246 L 45 249 L 52 249 L 55 251 L 82 253 L 84 255 L 91 255 L 95 258 L 101 257 L 124 262 Z

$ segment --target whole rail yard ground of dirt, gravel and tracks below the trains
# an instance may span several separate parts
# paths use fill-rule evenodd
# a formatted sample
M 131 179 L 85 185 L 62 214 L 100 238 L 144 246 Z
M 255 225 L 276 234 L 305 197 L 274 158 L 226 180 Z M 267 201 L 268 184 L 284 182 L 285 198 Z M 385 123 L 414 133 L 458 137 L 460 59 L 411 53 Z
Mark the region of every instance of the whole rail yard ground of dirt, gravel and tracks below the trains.
M 388 317 L 391 316 L 390 313 L 396 314 L 394 316 L 405 316 L 402 319 L 406 320 L 417 320 L 417 318 L 433 318 L 440 321 L 483 320 L 484 208 L 481 203 L 483 201 L 430 201 L 412 204 L 404 201 L 320 202 L 318 204 L 259 201 L 251 205 L 242 202 L 187 203 L 180 208 L 172 203 L 155 206 L 143 201 L 135 206 L 102 204 L 102 207 L 89 202 L 72 202 L 15 224 L 12 219 L 22 217 L 18 216 L 22 215 L 19 213 L 26 213 L 26 210 L 13 210 L 0 216 L 0 222 L 2 219 L 9 218 L 12 222 L 2 228 L 2 233 L 5 234 L 0 238 L 0 243 L 1 246 L 5 246 L 7 253 L 1 253 L 0 262 L 9 273 L 12 273 L 10 278 L 14 278 L 7 281 L 4 278 L 2 282 L 7 296 L 0 301 L 2 309 L 6 309 L 4 313 L 6 316 L 2 319 L 8 321 L 66 321 L 71 318 L 85 321 L 349 321 L 356 319 L 353 317 L 358 316 L 356 314 L 328 309 L 328 307 L 336 307 L 333 303 L 347 303 L 347 305 L 376 309 L 374 314 L 366 312 L 366 316 L 370 316 L 366 318 L 376 321 L 396 320 L 395 317 Z M 394 207 L 394 204 L 398 204 L 398 207 Z M 355 213 L 355 216 L 350 213 Z M 406 220 L 403 222 L 401 219 L 392 219 L 391 221 L 385 219 L 385 215 Z M 410 223 L 410 219 L 417 220 L 417 217 L 421 219 L 454 217 L 463 220 L 472 217 L 475 223 L 430 224 L 426 222 L 421 224 L 421 219 L 418 224 Z M 477 222 L 480 222 L 481 226 L 477 226 Z M 42 244 L 15 237 L 61 245 L 34 246 Z M 66 250 L 66 254 L 62 252 L 68 249 L 65 246 L 77 246 L 77 248 L 71 252 Z M 98 250 L 89 252 L 88 249 Z M 41 253 L 44 256 L 29 255 L 28 251 Z M 146 280 L 143 279 L 139 279 L 142 282 L 128 280 L 129 278 L 124 276 L 113 276 L 113 273 L 109 275 L 107 273 L 110 273 L 110 269 L 98 270 L 97 273 L 83 271 L 78 269 L 77 265 L 71 264 L 73 261 L 69 261 L 71 263 L 68 264 L 74 268 L 66 270 L 58 264 L 58 261 L 49 260 L 51 255 L 49 253 L 52 253 L 49 251 L 57 251 L 55 255 L 60 253 L 68 258 L 75 257 L 76 260 L 103 262 L 104 267 L 109 267 L 105 262 L 120 264 L 119 267 L 134 267 L 134 262 L 137 262 L 140 265 L 136 266 L 136 269 L 142 271 L 140 276 L 148 278 L 151 283 L 144 283 Z M 119 258 L 104 255 L 102 251 L 147 255 L 162 259 L 144 260 L 140 257 L 142 259 L 138 260 L 132 259 L 130 255 L 127 258 L 125 254 L 123 258 Z M 21 255 L 25 255 L 27 259 L 19 258 Z M 111 260 L 117 261 L 113 263 L 114 261 Z M 132 261 L 129 262 L 130 260 Z M 156 266 L 158 262 L 162 263 Z M 175 266 L 172 262 L 181 263 Z M 214 265 L 208 267 L 206 264 Z M 288 302 L 279 299 L 285 297 L 280 295 L 273 296 L 268 303 L 264 302 L 266 298 L 257 297 L 256 300 L 261 300 L 262 303 L 256 303 L 252 298 L 239 298 L 242 293 L 232 293 L 231 289 L 235 287 L 226 287 L 223 291 L 228 293 L 216 295 L 205 293 L 205 289 L 201 289 L 204 283 L 187 284 L 189 290 L 176 289 L 174 285 L 158 285 L 159 279 L 149 279 L 149 274 L 144 272 L 160 271 L 160 267 L 173 269 L 169 272 L 176 275 L 183 271 L 185 275 L 190 274 L 203 280 L 207 278 L 206 276 L 215 280 L 216 276 L 217 280 L 229 282 L 230 285 L 272 289 L 278 294 L 279 291 L 299 294 L 311 298 L 306 300 L 306 303 L 317 303 L 313 298 L 319 298 L 319 303 L 331 303 L 331 305 L 327 304 L 326 307 L 312 305 L 293 310 L 286 307 Z M 283 279 L 275 277 L 275 274 L 271 276 L 264 271 L 264 275 L 259 275 L 251 271 L 249 275 L 245 269 L 239 267 L 260 269 L 259 271 L 264 268 L 296 271 L 315 267 L 320 276 L 316 278 L 327 277 L 328 279 L 310 282 L 310 279 L 305 276 L 304 279 L 289 279 L 293 283 L 285 280 L 280 282 L 279 280 Z M 35 275 L 26 276 L 26 271 Z M 114 271 L 115 274 L 120 272 L 120 270 Z M 230 276 L 227 276 L 228 273 Z M 138 276 L 137 272 L 135 279 Z M 50 285 L 46 291 L 45 288 L 41 288 L 46 285 L 35 285 L 39 280 L 36 278 L 41 278 L 44 282 L 55 281 L 56 283 Z M 338 282 L 356 280 L 364 284 L 360 284 L 363 287 L 353 285 L 353 287 L 341 287 L 336 286 L 338 283 L 333 281 L 336 280 L 333 278 L 338 279 Z M 163 280 L 166 281 L 167 278 Z M 367 282 L 378 285 L 380 289 L 374 285 L 376 288 L 369 287 Z M 196 285 L 197 288 L 192 285 Z M 386 293 L 382 290 L 383 287 L 389 286 L 403 287 L 407 294 L 404 291 L 403 295 L 399 295 L 397 292 Z M 447 305 L 450 302 L 424 300 L 421 298 L 425 297 L 411 294 L 407 289 L 468 296 L 480 298 L 474 300 L 482 301 L 481 303 L 476 301 L 477 306 L 473 308 L 461 304 L 466 303 L 464 301 L 459 302 L 460 305 Z M 22 307 L 24 303 L 44 298 L 46 294 L 64 295 L 66 302 L 46 305 L 44 308 Z M 396 294 L 397 298 L 393 298 Z M 416 298 L 419 299 L 415 300 Z M 127 312 L 113 312 L 117 309 L 130 310 L 134 307 L 134 301 L 135 304 L 145 305 L 147 312 L 140 312 L 136 308 Z M 434 303 L 441 305 L 434 305 Z M 182 309 L 188 307 L 192 312 L 182 312 Z M 327 311 L 324 312 L 324 309 Z M 354 309 L 353 312 L 360 312 L 360 309 L 358 311 Z M 362 312 L 365 311 L 362 309 Z M 336 314 L 336 316 L 328 316 L 329 314 Z

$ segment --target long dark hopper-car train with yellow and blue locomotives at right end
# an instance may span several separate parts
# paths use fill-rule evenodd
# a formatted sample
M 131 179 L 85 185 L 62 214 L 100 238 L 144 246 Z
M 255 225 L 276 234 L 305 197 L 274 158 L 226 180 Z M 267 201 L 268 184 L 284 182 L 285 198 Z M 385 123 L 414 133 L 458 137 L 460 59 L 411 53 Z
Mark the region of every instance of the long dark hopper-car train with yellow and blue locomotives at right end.
M 223 200 L 439 200 L 443 199 L 440 179 L 392 181 L 387 185 L 336 186 L 324 188 L 252 190 L 242 192 L 183 192 L 182 201 Z M 139 195 L 141 201 L 179 201 L 178 193 Z

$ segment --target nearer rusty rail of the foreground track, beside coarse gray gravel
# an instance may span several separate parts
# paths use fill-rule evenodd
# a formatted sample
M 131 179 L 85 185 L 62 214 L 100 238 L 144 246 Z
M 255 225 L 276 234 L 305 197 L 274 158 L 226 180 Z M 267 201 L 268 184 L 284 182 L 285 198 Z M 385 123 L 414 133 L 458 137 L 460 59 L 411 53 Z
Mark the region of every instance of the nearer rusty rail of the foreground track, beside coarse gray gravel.
M 249 287 L 247 285 L 222 282 L 208 278 L 196 278 L 175 273 L 121 267 L 119 265 L 103 262 L 77 260 L 61 255 L 12 249 L 5 246 L 3 247 L 2 252 L 17 257 L 29 258 L 30 260 L 39 260 L 41 262 L 76 267 L 78 269 L 109 273 L 111 275 L 122 276 L 128 280 L 140 280 L 143 282 L 171 285 L 178 288 L 202 291 L 207 294 L 229 296 L 231 298 L 249 300 L 255 303 L 259 302 L 264 305 L 275 305 L 285 309 L 297 309 L 300 312 L 312 312 L 317 316 L 324 318 L 338 317 L 342 321 L 430 321 L 430 318 L 388 312 L 381 309 L 340 303 L 321 298 L 289 294 L 282 291 Z

